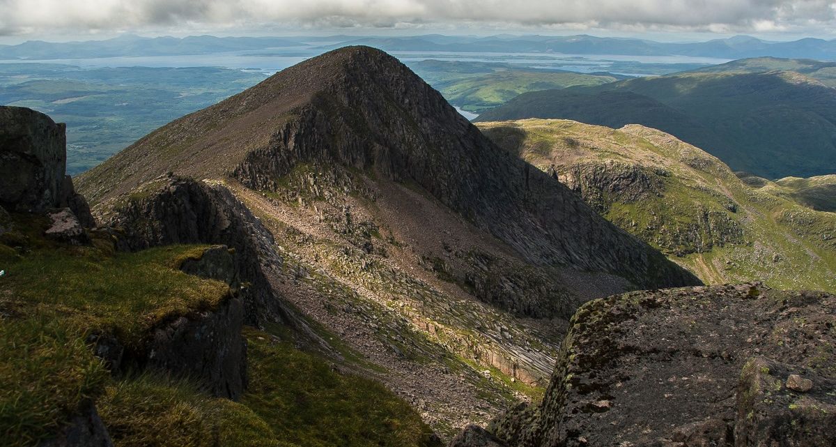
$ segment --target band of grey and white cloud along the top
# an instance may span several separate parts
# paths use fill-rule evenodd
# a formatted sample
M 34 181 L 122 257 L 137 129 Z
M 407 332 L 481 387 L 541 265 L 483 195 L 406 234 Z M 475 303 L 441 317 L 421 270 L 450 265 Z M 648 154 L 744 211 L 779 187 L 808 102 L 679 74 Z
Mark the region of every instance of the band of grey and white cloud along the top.
M 0 33 L 232 27 L 395 27 L 490 23 L 501 27 L 734 31 L 836 24 L 831 0 L 0 0 Z

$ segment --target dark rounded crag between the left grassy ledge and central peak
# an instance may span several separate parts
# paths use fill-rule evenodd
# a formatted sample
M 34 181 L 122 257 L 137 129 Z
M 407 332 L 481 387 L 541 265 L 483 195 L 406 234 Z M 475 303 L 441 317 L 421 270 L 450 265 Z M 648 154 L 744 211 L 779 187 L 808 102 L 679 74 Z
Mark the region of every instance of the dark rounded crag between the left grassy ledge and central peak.
M 262 270 L 263 263 L 282 263 L 271 247 L 273 235 L 227 188 L 163 177 L 133 193 L 105 215 L 103 222 L 120 231 L 123 249 L 166 244 L 232 247 L 236 280 L 250 283 L 242 290 L 247 323 L 287 321 L 286 311 L 273 295 Z

